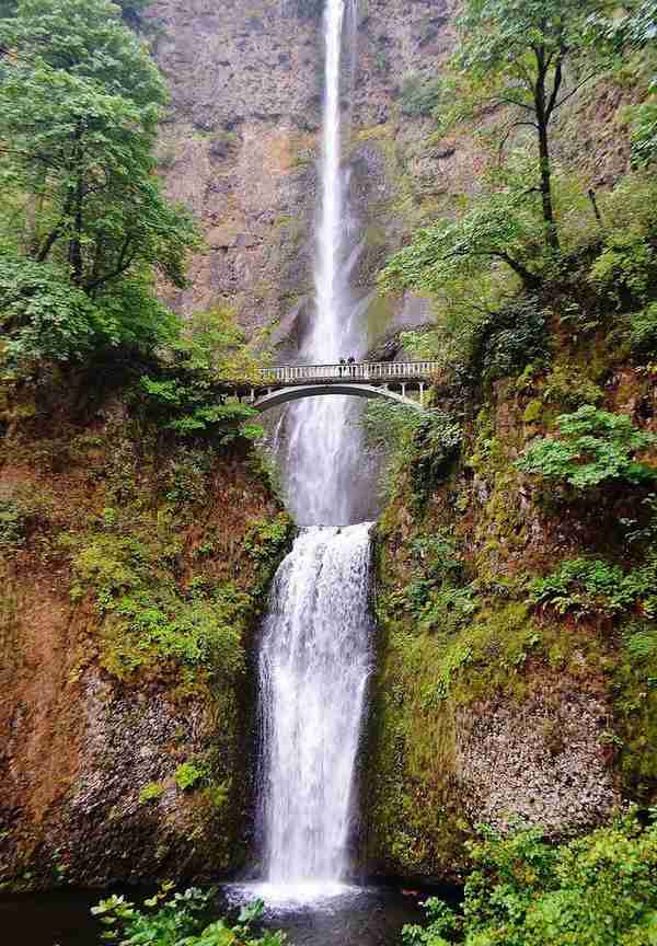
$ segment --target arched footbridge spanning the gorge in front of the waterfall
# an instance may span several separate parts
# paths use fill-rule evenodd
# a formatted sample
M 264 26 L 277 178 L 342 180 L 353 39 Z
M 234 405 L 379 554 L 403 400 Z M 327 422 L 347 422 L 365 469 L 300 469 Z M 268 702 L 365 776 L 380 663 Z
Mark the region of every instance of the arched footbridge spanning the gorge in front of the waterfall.
M 357 361 L 264 368 L 261 384 L 234 384 L 233 393 L 239 401 L 246 401 L 260 412 L 289 401 L 326 394 L 387 397 L 424 411 L 425 392 L 438 370 L 437 361 Z

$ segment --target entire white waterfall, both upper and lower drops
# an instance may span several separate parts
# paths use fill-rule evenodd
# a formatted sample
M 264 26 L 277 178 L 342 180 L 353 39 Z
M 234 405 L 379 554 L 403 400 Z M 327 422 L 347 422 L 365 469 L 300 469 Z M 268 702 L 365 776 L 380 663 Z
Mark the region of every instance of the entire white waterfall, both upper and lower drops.
M 347 7 L 347 2 L 349 5 Z M 315 320 L 304 360 L 355 346 L 349 214 L 342 166 L 345 18 L 356 0 L 326 0 L 325 95 Z M 269 898 L 331 892 L 348 874 L 354 773 L 371 665 L 370 528 L 354 521 L 358 434 L 348 399 L 290 409 L 288 494 L 303 528 L 272 589 L 260 657 L 261 827 Z

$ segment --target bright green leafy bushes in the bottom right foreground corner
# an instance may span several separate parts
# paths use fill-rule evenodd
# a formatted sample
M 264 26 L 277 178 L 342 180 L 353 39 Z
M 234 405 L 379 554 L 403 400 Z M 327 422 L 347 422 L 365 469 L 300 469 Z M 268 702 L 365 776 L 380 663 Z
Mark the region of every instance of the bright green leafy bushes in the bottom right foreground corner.
M 553 846 L 538 829 L 469 844 L 462 914 L 437 899 L 404 946 L 650 946 L 657 936 L 657 826 L 634 815 Z

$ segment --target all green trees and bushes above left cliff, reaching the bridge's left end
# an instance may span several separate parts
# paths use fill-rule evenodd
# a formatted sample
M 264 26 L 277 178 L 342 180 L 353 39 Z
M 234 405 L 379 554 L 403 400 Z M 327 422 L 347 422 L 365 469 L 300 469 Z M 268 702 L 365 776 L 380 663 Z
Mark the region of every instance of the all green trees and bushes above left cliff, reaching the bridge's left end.
M 254 412 L 222 380 L 260 367 L 232 314 L 183 326 L 154 296 L 155 275 L 186 285 L 200 241 L 155 173 L 168 94 L 126 25 L 143 5 L 21 0 L 2 11 L 0 372 L 37 381 L 54 362 L 131 361 L 136 409 L 160 428 L 254 440 Z

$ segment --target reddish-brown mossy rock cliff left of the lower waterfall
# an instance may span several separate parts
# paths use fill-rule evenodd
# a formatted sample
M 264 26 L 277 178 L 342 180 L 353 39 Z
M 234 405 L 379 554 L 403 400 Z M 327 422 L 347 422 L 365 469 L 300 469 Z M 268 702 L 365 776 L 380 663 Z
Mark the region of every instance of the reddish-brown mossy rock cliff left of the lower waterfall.
M 291 522 L 253 457 L 120 397 L 72 420 L 70 387 L 0 453 L 0 884 L 216 877 L 253 856 L 251 655 Z

